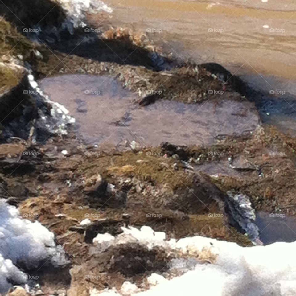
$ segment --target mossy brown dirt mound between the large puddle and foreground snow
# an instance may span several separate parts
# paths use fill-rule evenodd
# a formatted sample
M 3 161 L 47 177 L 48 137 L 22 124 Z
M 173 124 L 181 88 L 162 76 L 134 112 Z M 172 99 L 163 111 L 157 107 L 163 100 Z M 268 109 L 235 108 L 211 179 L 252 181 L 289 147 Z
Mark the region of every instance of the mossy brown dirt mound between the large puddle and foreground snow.
M 53 145 L 58 146 L 54 155 L 51 149 Z M 203 176 L 186 172 L 179 161 L 177 164 L 180 168 L 175 170 L 175 159 L 149 156 L 146 151 L 90 157 L 85 155 L 85 151 L 89 150 L 76 145 L 72 139 L 54 139 L 42 148 L 24 147 L 26 151 L 34 149 L 40 152 L 41 156 L 35 159 L 24 159 L 20 145 L 0 146 L 2 153 L 7 153 L 7 157 L 2 156 L 1 159 L 1 166 L 5 168 L 2 176 L 6 182 L 3 195 L 19 207 L 22 215 L 38 215 L 38 220 L 55 233 L 57 243 L 61 244 L 72 258 L 71 285 L 66 285 L 65 282 L 50 282 L 41 277 L 43 282 L 40 283 L 44 291 L 64 287 L 70 288 L 69 293 L 72 289 L 77 292 L 75 286 L 79 285 L 81 293 L 88 293 L 90 287 L 96 287 L 98 290 L 120 287 L 128 279 L 133 282 L 142 281 L 141 279 L 149 274 L 146 270 L 162 270 L 168 262 L 168 258 L 161 257 L 162 253 L 157 255 L 134 249 L 133 246 L 125 246 L 121 251 L 109 250 L 110 254 L 104 253 L 100 257 L 92 255 L 92 238 L 105 232 L 116 235 L 121 232 L 121 226 L 149 225 L 156 231 L 166 232 L 171 238 L 199 234 L 250 245 L 250 241 L 231 227 L 227 219 L 208 215 L 211 212 L 224 212 L 219 202 L 212 199 L 223 193 Z M 66 147 L 68 150 L 72 147 L 72 152 L 64 157 L 61 149 Z M 47 155 L 47 152 L 50 155 Z M 108 184 L 113 184 L 117 192 L 127 192 L 124 207 L 113 208 L 112 205 L 100 201 L 102 191 L 97 191 L 94 198 L 86 193 L 86 187 L 89 188 L 96 182 L 98 174 L 101 174 Z M 14 199 L 13 191 L 16 195 Z M 22 192 L 27 192 L 25 200 L 17 197 L 23 198 Z M 92 220 L 93 224 L 82 228 L 79 222 L 86 217 Z M 31 217 L 29 219 L 34 220 Z M 122 253 L 124 251 L 125 253 Z M 147 257 L 155 265 L 143 269 L 141 263 L 137 265 L 137 271 L 133 261 L 135 255 L 127 256 L 136 253 L 143 258 L 143 262 L 146 262 Z M 114 263 L 105 266 L 114 254 Z M 156 255 L 160 256 L 160 265 L 156 265 Z M 125 261 L 122 261 L 122 256 Z M 124 262 L 122 267 L 115 263 L 117 260 Z M 96 262 L 95 266 L 91 262 Z M 133 268 L 128 269 L 127 266 L 131 265 Z M 145 270 L 143 274 L 141 268 Z M 80 270 L 78 273 L 77 269 Z M 93 275 L 95 280 L 88 281 L 88 278 L 85 278 L 87 275 Z M 100 280 L 96 278 L 98 276 Z

